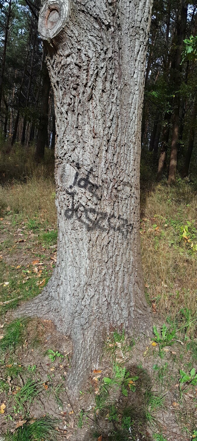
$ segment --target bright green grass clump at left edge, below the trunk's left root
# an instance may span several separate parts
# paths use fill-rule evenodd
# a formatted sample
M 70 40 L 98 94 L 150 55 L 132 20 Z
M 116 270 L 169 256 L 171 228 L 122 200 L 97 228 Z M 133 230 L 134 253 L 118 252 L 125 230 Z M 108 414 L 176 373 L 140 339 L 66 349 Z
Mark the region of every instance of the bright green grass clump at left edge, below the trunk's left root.
M 0 352 L 13 352 L 26 336 L 27 319 L 17 319 L 5 327 L 4 338 L 0 340 Z

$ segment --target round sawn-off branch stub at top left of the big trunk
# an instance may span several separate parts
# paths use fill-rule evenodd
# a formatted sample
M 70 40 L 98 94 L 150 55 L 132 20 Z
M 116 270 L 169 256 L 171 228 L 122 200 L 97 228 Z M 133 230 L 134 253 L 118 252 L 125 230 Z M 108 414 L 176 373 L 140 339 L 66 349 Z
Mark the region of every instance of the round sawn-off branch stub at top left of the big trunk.
M 56 37 L 64 28 L 69 15 L 68 0 L 49 0 L 41 8 L 38 32 L 43 40 Z

